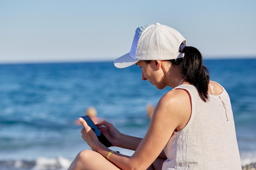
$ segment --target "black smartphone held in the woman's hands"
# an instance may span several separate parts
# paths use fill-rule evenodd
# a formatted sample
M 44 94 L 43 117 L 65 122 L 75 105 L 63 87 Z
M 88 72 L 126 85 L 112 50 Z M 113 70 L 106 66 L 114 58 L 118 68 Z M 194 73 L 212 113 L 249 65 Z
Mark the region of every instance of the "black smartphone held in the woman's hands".
M 92 130 L 94 131 L 94 133 L 98 137 L 101 144 L 105 145 L 106 147 L 112 146 L 110 141 L 108 141 L 108 139 L 103 135 L 101 130 L 99 130 L 99 128 L 94 124 L 94 122 L 92 121 L 92 119 L 89 116 L 82 116 L 82 118 L 86 121 L 88 126 L 90 126 L 92 128 Z

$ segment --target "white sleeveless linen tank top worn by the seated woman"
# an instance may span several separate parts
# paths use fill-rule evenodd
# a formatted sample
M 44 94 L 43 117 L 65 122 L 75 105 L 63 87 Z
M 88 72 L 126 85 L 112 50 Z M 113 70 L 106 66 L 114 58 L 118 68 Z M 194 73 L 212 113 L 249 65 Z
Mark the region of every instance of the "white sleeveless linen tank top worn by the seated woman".
M 179 132 L 173 132 L 164 148 L 167 160 L 162 170 L 241 170 L 235 124 L 229 95 L 209 95 L 203 102 L 193 85 L 180 85 L 189 92 L 191 117 Z

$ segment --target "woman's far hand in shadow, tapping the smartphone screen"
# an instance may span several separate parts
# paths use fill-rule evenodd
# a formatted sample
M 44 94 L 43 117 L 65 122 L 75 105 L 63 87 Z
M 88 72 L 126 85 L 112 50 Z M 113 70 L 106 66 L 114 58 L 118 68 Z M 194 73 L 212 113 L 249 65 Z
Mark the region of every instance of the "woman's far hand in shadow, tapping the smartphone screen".
M 104 126 L 102 126 L 104 125 Z M 102 120 L 98 124 L 96 124 L 101 132 L 105 135 L 105 137 L 110 141 L 112 146 L 119 146 L 119 142 L 121 141 L 121 133 L 115 128 L 113 124 Z

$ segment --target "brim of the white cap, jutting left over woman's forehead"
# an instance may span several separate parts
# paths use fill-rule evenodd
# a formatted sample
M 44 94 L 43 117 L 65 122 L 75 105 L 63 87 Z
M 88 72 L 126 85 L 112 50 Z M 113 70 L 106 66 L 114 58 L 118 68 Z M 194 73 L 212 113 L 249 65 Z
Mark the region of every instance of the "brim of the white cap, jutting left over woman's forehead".
M 115 61 L 114 61 L 114 65 L 117 67 L 117 68 L 126 68 L 126 67 L 129 67 L 135 63 L 137 63 L 139 60 L 137 59 L 133 59 L 129 53 L 117 58 Z

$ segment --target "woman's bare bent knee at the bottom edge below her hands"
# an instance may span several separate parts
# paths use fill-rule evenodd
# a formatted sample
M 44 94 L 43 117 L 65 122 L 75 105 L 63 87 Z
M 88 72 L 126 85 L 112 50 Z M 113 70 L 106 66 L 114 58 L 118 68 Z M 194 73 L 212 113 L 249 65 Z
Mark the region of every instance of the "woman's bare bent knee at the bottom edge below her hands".
M 68 170 L 120 170 L 98 152 L 81 151 Z

